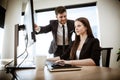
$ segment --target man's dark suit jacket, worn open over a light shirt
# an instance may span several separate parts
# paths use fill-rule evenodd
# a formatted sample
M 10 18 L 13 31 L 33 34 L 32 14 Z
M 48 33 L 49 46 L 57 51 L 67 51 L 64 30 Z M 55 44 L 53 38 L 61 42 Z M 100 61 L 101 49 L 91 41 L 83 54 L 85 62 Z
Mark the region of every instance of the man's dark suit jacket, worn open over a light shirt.
M 51 41 L 51 45 L 49 48 L 49 53 L 55 53 L 57 49 L 57 29 L 58 29 L 58 20 L 51 20 L 50 24 L 47 26 L 41 26 L 41 30 L 39 33 L 48 33 L 52 31 L 53 40 Z M 67 20 L 67 28 L 68 28 L 68 43 L 71 42 L 71 36 L 74 32 L 74 21 Z M 37 34 L 39 34 L 37 33 Z

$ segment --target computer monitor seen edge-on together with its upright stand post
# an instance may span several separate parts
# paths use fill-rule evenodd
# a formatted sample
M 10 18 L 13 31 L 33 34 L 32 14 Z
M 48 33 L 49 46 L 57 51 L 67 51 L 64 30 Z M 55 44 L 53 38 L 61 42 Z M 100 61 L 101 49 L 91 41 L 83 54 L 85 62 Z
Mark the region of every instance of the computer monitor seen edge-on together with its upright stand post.
M 33 0 L 27 0 L 25 15 L 24 15 L 24 23 L 23 25 L 15 25 L 15 52 L 14 52 L 14 66 L 18 66 L 17 59 L 19 56 L 17 55 L 17 47 L 19 43 L 19 30 L 24 29 L 26 32 L 27 45 L 33 45 L 36 42 L 35 30 L 34 30 L 34 8 L 33 8 Z M 27 49 L 26 48 L 26 49 Z

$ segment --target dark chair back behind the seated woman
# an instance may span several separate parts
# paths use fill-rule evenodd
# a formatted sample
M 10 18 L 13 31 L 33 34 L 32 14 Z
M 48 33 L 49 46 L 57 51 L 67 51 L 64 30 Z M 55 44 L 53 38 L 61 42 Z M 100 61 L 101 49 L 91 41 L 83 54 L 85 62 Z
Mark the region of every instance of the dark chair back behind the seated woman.
M 109 67 L 111 49 L 113 48 L 101 48 L 101 66 Z

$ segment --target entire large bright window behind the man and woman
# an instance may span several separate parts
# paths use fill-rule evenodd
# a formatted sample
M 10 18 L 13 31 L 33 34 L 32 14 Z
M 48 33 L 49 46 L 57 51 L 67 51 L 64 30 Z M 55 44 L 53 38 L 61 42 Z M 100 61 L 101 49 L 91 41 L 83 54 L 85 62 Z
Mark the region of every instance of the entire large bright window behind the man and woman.
M 78 17 L 86 17 L 90 21 L 90 25 L 92 27 L 92 31 L 95 37 L 99 39 L 99 26 L 97 19 L 97 8 L 96 6 L 88 6 L 88 7 L 77 7 L 67 9 L 67 18 L 75 20 Z M 39 26 L 44 26 L 49 24 L 49 21 L 52 19 L 56 19 L 54 10 L 51 11 L 43 11 L 37 13 L 37 24 Z M 37 54 L 47 54 L 49 46 L 52 40 L 52 33 L 39 34 L 36 36 L 36 53 Z

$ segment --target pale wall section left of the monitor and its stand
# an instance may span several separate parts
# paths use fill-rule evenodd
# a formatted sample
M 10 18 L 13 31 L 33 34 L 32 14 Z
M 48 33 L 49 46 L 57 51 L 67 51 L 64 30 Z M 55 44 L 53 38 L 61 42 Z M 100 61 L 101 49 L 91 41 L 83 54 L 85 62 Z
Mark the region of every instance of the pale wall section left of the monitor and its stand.
M 8 0 L 5 14 L 5 32 L 2 58 L 13 58 L 14 54 L 14 26 L 20 23 L 22 3 L 21 0 Z

